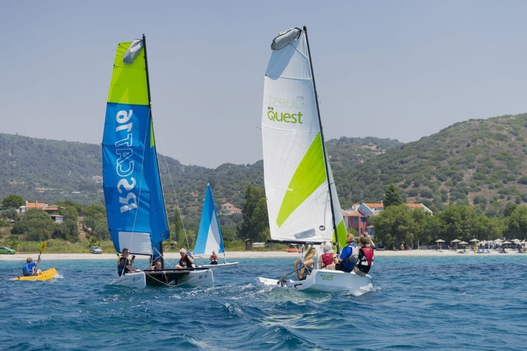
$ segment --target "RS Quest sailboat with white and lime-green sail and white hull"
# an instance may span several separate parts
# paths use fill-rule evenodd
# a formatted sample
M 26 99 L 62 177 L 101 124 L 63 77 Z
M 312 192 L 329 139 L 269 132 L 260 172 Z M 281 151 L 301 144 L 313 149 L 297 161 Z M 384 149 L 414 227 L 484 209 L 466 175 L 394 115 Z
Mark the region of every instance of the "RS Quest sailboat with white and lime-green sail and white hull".
M 346 227 L 327 159 L 307 28 L 275 37 L 264 78 L 262 144 L 269 242 L 346 245 Z M 313 269 L 305 280 L 258 277 L 257 285 L 316 292 L 373 288 L 369 275 Z

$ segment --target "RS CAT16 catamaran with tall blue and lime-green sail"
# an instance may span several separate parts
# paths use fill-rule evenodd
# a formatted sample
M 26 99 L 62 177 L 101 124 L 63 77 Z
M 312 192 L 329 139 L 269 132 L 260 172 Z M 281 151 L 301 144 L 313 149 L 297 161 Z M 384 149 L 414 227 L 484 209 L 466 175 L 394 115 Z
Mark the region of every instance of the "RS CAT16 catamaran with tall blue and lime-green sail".
M 152 123 L 145 36 L 120 43 L 102 141 L 103 189 L 108 229 L 117 253 L 161 259 L 160 270 L 145 269 L 111 285 L 212 286 L 210 269 L 165 269 L 163 241 L 170 238 Z

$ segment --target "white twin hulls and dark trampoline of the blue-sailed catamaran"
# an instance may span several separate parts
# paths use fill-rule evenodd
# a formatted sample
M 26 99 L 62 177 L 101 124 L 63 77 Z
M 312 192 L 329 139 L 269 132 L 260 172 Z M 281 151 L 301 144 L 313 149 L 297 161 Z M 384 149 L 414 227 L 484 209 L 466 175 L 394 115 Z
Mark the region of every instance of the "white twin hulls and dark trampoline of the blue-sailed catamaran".
M 214 286 L 214 275 L 210 269 L 196 270 L 147 270 L 127 273 L 110 282 L 110 285 L 143 289 L 147 286 L 196 287 Z

